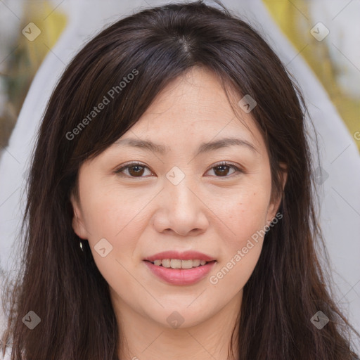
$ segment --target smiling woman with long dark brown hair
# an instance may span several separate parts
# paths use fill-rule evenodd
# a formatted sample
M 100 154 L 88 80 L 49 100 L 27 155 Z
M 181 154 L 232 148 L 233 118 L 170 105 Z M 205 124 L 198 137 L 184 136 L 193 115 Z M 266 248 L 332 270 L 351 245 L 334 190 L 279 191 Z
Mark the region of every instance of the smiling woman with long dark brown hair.
M 225 8 L 141 11 L 86 44 L 39 129 L 11 360 L 354 359 L 304 114 Z

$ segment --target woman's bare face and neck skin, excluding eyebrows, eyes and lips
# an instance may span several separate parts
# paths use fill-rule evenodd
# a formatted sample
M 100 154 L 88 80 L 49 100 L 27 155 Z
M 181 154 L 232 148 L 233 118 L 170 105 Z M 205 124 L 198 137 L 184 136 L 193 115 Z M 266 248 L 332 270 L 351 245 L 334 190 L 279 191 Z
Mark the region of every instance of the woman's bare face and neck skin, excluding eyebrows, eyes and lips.
M 236 102 L 240 98 L 234 95 Z M 110 285 L 124 336 L 121 359 L 168 360 L 169 354 L 181 360 L 228 359 L 243 287 L 259 259 L 262 236 L 216 284 L 210 276 L 274 219 L 281 200 L 271 203 L 269 157 L 251 112 L 239 114 L 241 120 L 211 72 L 192 68 L 169 84 L 121 138 L 160 143 L 169 147 L 165 154 L 114 143 L 79 170 L 72 226 L 89 240 Z M 228 136 L 256 150 L 228 146 L 194 157 L 200 143 Z M 215 167 L 221 161 L 243 172 Z M 143 163 L 142 172 L 132 167 L 115 173 L 129 162 Z M 174 166 L 185 174 L 177 185 L 166 177 Z M 113 245 L 105 257 L 94 250 L 101 238 Z M 217 263 L 198 283 L 171 285 L 143 262 L 165 250 L 196 250 Z M 179 328 L 167 322 L 173 311 L 184 320 Z

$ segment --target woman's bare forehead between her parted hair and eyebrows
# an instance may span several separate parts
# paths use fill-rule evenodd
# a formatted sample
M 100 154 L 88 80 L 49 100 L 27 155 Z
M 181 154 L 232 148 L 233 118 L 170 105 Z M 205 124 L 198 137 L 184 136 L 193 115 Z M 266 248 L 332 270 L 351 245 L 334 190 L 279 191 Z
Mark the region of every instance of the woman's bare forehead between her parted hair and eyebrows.
M 238 136 L 262 147 L 262 135 L 250 113 L 240 109 L 242 97 L 226 92 L 219 79 L 206 68 L 191 68 L 163 89 L 138 122 L 121 139 L 134 136 L 166 144 L 210 141 Z M 229 100 L 233 103 L 234 113 Z

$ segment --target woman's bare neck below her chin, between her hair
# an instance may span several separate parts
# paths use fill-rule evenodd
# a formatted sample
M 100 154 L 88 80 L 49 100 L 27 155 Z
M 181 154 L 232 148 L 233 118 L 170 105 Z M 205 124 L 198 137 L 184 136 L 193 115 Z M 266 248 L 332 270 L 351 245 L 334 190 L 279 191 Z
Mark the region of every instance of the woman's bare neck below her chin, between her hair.
M 184 328 L 171 328 L 166 321 L 159 323 L 114 298 L 121 336 L 119 359 L 168 360 L 171 355 L 176 360 L 238 360 L 241 297 L 242 291 L 214 316 Z M 230 344 L 233 352 L 229 352 Z

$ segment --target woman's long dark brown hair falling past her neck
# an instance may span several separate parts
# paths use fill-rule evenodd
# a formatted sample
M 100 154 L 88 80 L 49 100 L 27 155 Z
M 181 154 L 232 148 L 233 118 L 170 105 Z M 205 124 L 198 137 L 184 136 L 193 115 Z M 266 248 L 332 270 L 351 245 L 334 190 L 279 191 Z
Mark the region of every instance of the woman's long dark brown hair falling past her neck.
M 225 91 L 255 99 L 252 116 L 266 141 L 273 191 L 282 195 L 283 218 L 266 233 L 239 304 L 236 357 L 355 356 L 347 338 L 354 329 L 330 296 L 315 252 L 322 240 L 300 91 L 250 25 L 224 6 L 197 1 L 117 21 L 77 53 L 53 91 L 28 181 L 21 268 L 4 294 L 2 341 L 4 349 L 13 347 L 11 360 L 118 359 L 122 329 L 89 243 L 83 242 L 85 252 L 79 248 L 70 194 L 82 163 L 119 139 L 172 79 L 195 65 L 211 70 Z M 92 113 L 99 103 L 106 104 Z M 288 169 L 284 189 L 281 163 Z M 41 319 L 33 330 L 23 323 L 29 311 Z M 321 330 L 310 321 L 317 311 L 330 319 Z

